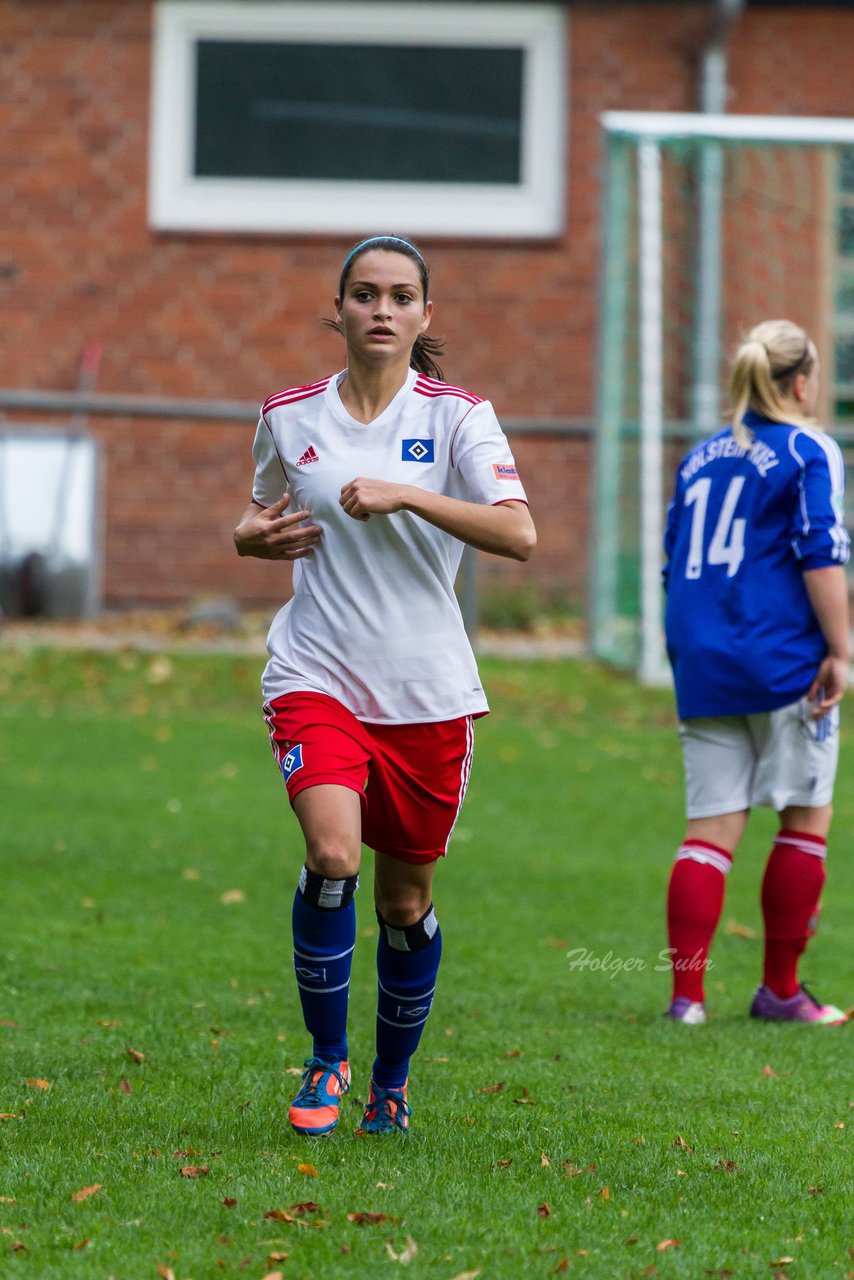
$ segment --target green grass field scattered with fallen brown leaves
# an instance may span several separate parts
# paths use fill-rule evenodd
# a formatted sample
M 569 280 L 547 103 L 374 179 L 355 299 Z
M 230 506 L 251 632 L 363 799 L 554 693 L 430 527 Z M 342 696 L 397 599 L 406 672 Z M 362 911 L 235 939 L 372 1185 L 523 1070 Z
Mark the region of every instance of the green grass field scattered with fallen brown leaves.
M 671 698 L 590 664 L 483 663 L 493 714 L 437 877 L 444 960 L 410 1138 L 353 1137 L 370 855 L 352 1106 L 329 1139 L 289 1132 L 302 850 L 259 672 L 0 652 L 0 1277 L 850 1276 L 854 1028 L 746 1018 L 772 817 L 730 876 L 709 1023 L 673 1027 Z M 853 763 L 844 741 L 803 968 L 845 1006 Z

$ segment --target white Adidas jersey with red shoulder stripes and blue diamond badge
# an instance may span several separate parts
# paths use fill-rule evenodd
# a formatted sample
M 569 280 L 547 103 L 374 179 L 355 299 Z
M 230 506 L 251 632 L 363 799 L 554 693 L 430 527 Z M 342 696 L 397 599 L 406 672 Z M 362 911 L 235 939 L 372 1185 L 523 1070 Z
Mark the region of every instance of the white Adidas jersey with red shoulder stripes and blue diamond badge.
M 410 370 L 365 425 L 344 408 L 344 374 L 271 396 L 255 435 L 252 498 L 311 512 L 323 536 L 293 562 L 293 598 L 273 620 L 261 689 L 328 694 L 359 719 L 424 723 L 488 710 L 453 582 L 462 543 L 411 512 L 353 520 L 357 476 L 467 502 L 525 502 L 488 401 Z

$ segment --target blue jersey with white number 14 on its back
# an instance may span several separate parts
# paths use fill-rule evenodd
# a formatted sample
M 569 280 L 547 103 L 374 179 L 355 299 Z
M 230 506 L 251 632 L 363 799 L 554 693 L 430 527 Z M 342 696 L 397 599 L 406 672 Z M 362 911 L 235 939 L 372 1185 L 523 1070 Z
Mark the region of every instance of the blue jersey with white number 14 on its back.
M 827 645 L 805 570 L 844 564 L 845 475 L 819 430 L 748 413 L 684 458 L 667 508 L 665 630 L 681 719 L 802 698 Z

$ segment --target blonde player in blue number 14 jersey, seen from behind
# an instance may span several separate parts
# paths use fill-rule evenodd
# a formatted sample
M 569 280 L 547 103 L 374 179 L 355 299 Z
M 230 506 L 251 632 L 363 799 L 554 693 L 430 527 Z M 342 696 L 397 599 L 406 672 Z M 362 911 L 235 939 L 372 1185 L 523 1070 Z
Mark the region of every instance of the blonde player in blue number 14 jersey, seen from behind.
M 767 320 L 739 347 L 732 426 L 682 461 L 665 535 L 666 634 L 688 828 L 667 895 L 668 1016 L 703 1023 L 723 887 L 754 805 L 777 832 L 762 882 L 764 973 L 750 1015 L 839 1024 L 798 979 L 816 932 L 850 660 L 839 447 L 816 425 L 818 355 Z

